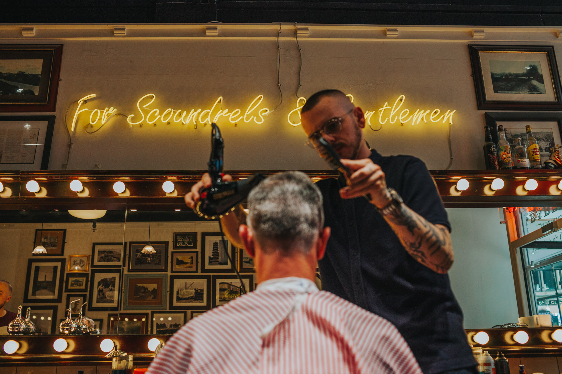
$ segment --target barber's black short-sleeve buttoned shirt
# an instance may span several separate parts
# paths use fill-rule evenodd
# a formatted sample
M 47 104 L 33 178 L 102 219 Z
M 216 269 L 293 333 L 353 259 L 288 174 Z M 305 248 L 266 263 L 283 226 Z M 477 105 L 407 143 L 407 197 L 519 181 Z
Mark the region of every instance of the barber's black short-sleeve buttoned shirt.
M 421 160 L 383 157 L 377 151 L 370 158 L 406 206 L 450 230 L 441 197 Z M 392 322 L 425 374 L 474 366 L 463 312 L 448 275 L 414 260 L 364 197 L 342 199 L 342 178 L 316 185 L 324 196 L 325 225 L 332 228 L 326 255 L 319 262 L 322 288 Z

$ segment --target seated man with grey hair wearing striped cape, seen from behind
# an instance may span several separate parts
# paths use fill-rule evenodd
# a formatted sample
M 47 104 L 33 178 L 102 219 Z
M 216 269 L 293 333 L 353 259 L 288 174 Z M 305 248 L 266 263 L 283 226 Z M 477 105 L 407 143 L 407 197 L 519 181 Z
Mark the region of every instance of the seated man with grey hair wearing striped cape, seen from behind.
M 161 373 L 422 374 L 395 326 L 314 283 L 330 228 L 322 196 L 300 172 L 269 177 L 248 196 L 239 228 L 255 292 L 189 321 L 148 368 Z

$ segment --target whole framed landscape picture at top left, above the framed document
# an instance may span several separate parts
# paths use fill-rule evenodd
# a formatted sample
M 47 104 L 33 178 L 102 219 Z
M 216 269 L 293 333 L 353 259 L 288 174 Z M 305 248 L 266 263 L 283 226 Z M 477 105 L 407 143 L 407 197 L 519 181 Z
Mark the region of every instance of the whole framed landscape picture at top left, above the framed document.
M 62 44 L 0 45 L 0 112 L 55 112 Z

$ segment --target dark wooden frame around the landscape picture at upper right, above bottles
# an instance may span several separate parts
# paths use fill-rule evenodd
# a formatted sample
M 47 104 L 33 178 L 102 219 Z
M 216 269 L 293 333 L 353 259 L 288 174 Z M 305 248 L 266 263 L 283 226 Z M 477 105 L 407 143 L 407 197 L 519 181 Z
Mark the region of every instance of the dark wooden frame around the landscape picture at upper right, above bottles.
M 476 98 L 478 109 L 481 110 L 562 110 L 562 89 L 560 88 L 560 76 L 558 65 L 556 64 L 556 56 L 552 45 L 474 45 L 469 44 L 470 63 L 472 64 L 472 76 L 474 80 L 474 88 L 476 90 Z M 551 82 L 544 82 L 545 85 L 552 85 L 554 91 L 554 100 L 552 101 L 514 101 L 514 100 L 490 100 L 486 95 L 486 85 L 484 83 L 484 75 L 482 62 L 480 58 L 481 52 L 542 52 L 546 53 L 548 67 L 543 68 L 543 78 L 545 70 L 548 68 Z

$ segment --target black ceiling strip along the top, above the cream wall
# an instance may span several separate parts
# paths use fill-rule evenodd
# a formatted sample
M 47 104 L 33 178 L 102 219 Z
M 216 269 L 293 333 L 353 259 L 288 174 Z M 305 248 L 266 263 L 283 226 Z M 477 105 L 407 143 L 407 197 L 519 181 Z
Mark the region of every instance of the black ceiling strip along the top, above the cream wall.
M 552 5 L 555 3 L 556 5 Z M 0 23 L 562 26 L 560 2 L 498 0 L 3 0 Z

